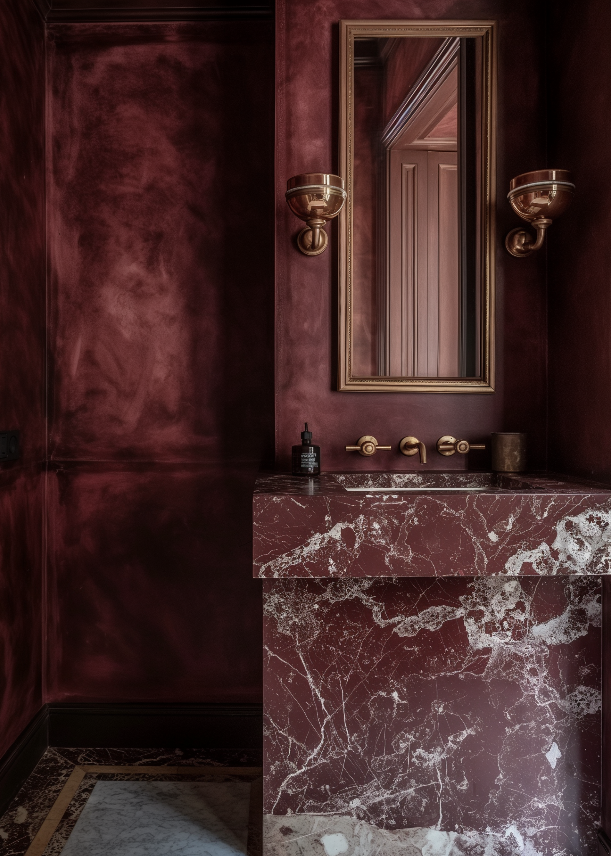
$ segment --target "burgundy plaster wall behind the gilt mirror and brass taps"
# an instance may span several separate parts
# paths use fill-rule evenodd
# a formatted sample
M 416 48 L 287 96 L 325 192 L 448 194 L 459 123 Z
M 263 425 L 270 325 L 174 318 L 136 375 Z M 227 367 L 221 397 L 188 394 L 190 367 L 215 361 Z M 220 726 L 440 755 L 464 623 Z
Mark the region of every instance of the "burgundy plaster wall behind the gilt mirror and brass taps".
M 278 0 L 276 8 L 276 466 L 289 467 L 290 447 L 307 420 L 322 447 L 324 469 L 404 469 L 412 434 L 430 449 L 427 468 L 465 467 L 463 457 L 433 451 L 442 434 L 484 438 L 490 431 L 528 431 L 531 464 L 545 465 L 545 259 L 513 259 L 503 241 L 515 225 L 506 200 L 513 175 L 544 159 L 541 10 L 523 0 Z M 284 200 L 286 181 L 308 170 L 338 168 L 338 21 L 467 18 L 499 21 L 497 147 L 497 379 L 494 395 L 338 393 L 334 250 L 306 258 L 295 246 L 300 222 Z M 311 21 L 317 26 L 311 27 Z M 336 242 L 335 225 L 331 229 Z M 394 451 L 366 461 L 344 452 L 362 434 Z M 473 453 L 470 465 L 483 467 Z

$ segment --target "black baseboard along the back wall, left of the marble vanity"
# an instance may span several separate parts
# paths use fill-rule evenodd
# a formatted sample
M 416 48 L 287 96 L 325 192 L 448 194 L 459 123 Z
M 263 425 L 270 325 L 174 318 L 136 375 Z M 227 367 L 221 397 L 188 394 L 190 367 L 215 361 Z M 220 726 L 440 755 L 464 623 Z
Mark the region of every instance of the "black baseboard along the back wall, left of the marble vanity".
M 49 704 L 49 746 L 260 749 L 261 704 Z

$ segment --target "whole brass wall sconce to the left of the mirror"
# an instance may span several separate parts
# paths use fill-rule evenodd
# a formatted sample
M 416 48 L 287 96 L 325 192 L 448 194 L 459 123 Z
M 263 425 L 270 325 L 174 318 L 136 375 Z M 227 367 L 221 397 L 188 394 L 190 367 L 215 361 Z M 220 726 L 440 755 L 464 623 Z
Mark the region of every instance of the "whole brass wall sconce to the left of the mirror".
M 284 195 L 294 215 L 307 223 L 306 229 L 301 229 L 297 238 L 301 252 L 306 256 L 324 253 L 329 235 L 323 226 L 328 220 L 337 217 L 346 201 L 343 178 L 325 172 L 294 175 L 288 179 Z

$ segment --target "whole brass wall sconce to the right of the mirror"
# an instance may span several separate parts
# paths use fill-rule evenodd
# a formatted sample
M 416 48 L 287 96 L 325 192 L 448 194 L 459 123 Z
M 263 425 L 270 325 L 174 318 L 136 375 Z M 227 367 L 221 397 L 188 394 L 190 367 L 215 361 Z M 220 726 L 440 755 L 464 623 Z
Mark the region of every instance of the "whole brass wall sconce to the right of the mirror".
M 543 247 L 545 232 L 556 217 L 572 203 L 575 185 L 567 169 L 536 169 L 509 182 L 507 199 L 513 211 L 537 229 L 537 238 L 522 227 L 512 229 L 505 239 L 507 251 L 518 259 Z

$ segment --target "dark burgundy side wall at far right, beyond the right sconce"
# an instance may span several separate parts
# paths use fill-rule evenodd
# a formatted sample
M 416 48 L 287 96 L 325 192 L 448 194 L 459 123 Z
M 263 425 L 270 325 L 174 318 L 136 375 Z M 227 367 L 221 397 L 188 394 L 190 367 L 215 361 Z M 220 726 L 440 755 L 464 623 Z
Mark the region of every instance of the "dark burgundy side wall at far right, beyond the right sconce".
M 611 9 L 550 21 L 549 163 L 570 169 L 571 208 L 549 232 L 549 461 L 611 478 Z

